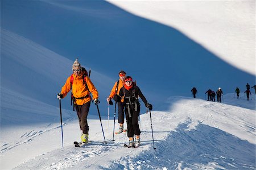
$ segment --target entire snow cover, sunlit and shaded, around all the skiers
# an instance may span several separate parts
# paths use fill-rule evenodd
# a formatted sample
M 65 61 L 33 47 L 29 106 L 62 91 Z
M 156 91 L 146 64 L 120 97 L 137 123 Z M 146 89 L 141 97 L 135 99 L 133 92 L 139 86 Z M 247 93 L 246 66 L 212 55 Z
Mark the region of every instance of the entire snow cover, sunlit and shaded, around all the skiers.
M 243 95 L 255 84 L 255 2 L 123 2 L 1 1 L 1 169 L 255 169 L 255 96 Z M 80 131 L 66 97 L 61 148 L 56 94 L 76 57 L 93 68 L 108 144 L 91 105 L 93 142 L 73 147 Z M 143 103 L 142 146 L 123 148 L 125 133 L 110 140 L 105 98 L 121 69 L 153 104 L 155 151 Z M 223 103 L 203 100 L 218 86 Z

